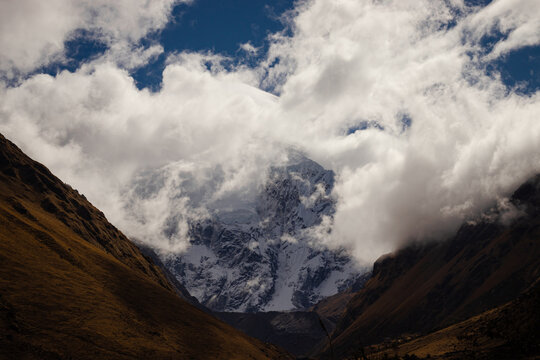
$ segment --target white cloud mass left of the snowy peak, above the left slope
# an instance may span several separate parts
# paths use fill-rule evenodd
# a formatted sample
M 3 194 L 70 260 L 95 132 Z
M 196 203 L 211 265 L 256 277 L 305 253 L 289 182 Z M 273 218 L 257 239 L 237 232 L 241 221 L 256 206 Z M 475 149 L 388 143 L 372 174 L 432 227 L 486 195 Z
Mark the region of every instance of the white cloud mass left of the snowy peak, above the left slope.
M 241 72 L 206 69 L 205 56 L 175 61 L 157 94 L 139 91 L 111 63 L 34 76 L 2 89 L 0 131 L 130 236 L 181 248 L 185 238 L 169 241 L 157 229 L 208 203 L 241 203 L 280 147 L 264 131 L 273 95 L 246 85 Z

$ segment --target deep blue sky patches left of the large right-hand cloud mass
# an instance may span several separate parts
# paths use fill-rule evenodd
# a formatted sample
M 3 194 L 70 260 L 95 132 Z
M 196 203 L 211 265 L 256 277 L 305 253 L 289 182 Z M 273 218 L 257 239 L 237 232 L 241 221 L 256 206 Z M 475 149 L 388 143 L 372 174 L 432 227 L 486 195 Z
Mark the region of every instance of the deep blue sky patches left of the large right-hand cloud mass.
M 133 71 L 132 76 L 139 88 L 158 90 L 167 55 L 181 51 L 211 51 L 254 66 L 268 50 L 268 36 L 287 31 L 282 16 L 293 8 L 293 0 L 196 0 L 177 4 L 164 29 L 141 39 L 142 44 L 161 44 L 164 53 Z M 93 38 L 87 31 L 78 31 L 65 43 L 68 62 L 50 64 L 36 73 L 75 71 L 82 62 L 95 59 L 107 46 Z M 244 43 L 256 47 L 257 55 L 242 51 L 240 45 Z

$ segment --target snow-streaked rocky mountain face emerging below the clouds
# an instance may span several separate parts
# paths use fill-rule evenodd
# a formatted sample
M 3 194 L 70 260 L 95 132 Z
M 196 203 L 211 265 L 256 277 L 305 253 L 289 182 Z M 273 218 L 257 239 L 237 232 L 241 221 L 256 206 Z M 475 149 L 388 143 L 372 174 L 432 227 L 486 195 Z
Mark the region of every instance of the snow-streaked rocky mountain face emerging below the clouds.
M 310 231 L 335 212 L 333 184 L 332 171 L 296 154 L 270 170 L 253 204 L 192 224 L 191 247 L 164 262 L 215 311 L 307 309 L 363 270 L 345 251 L 313 245 Z

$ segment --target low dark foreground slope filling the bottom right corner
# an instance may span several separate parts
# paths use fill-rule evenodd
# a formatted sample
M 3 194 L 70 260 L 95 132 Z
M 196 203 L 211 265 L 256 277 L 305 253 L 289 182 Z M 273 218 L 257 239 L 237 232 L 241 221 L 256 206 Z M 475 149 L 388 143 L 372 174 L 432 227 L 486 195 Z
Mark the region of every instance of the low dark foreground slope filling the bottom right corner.
M 366 348 L 368 359 L 534 359 L 540 355 L 540 279 L 505 305 L 442 330 Z

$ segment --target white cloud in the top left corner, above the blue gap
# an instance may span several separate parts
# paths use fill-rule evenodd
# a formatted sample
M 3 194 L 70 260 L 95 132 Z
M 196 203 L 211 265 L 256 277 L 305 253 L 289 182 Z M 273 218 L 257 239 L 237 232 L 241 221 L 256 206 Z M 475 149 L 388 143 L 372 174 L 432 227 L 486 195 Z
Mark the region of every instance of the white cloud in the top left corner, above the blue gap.
M 109 56 L 129 64 L 127 52 L 150 31 L 161 29 L 178 0 L 2 0 L 0 75 L 13 78 L 64 59 L 64 43 L 85 30 L 110 46 Z M 155 52 L 153 47 L 151 52 Z M 137 49 L 138 51 L 142 51 Z M 149 54 L 145 54 L 149 55 Z

